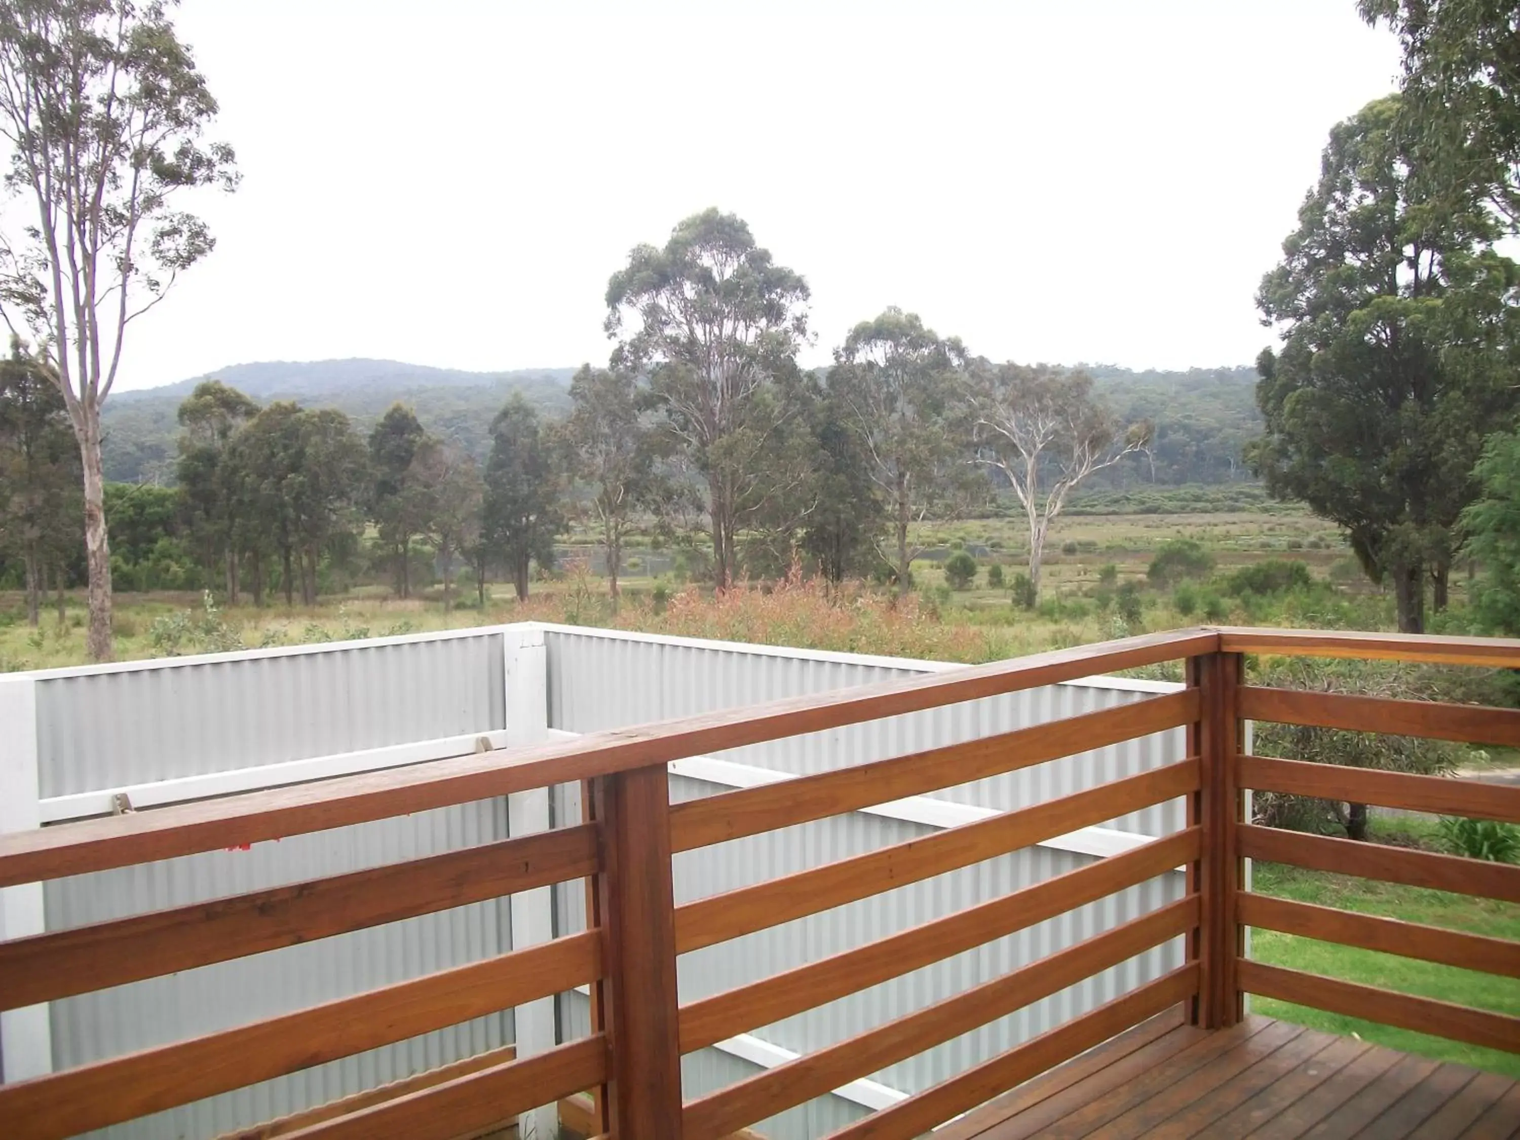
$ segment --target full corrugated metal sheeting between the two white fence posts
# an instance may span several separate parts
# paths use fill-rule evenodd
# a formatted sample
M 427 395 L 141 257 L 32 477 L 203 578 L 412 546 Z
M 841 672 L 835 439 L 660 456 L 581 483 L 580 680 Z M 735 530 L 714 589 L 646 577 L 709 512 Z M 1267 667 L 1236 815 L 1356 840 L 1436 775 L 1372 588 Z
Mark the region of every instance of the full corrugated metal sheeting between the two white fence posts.
M 44 796 L 503 728 L 496 629 L 50 670 L 36 679 Z M 50 930 L 505 839 L 505 801 L 461 804 L 46 885 Z M 511 948 L 492 900 L 147 979 L 50 1006 L 64 1069 L 182 1040 Z M 111 1137 L 214 1135 L 512 1040 L 511 1011 L 169 1113 Z

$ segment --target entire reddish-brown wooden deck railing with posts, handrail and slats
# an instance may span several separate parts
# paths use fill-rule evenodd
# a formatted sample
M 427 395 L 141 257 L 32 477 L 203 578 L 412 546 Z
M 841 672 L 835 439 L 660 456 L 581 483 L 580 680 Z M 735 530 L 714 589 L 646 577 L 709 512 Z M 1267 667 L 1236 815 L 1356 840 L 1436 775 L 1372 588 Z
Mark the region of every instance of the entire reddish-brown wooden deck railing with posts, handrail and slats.
M 62 1137 L 401 1041 L 578 985 L 593 1032 L 534 1056 L 418 1084 L 287 1135 L 461 1137 L 593 1091 L 623 1140 L 711 1140 L 868 1076 L 1186 938 L 1181 965 L 838 1135 L 914 1137 L 1180 1002 L 1201 1024 L 1259 993 L 1514 1049 L 1520 1020 L 1377 994 L 1245 961 L 1243 924 L 1520 976 L 1514 945 L 1245 892 L 1242 859 L 1274 859 L 1520 901 L 1520 868 L 1336 839 L 1242 818 L 1242 789 L 1520 821 L 1520 792 L 1242 755 L 1245 719 L 1520 743 L 1520 713 L 1245 686 L 1242 654 L 1404 657 L 1520 666 L 1520 643 L 1180 631 L 993 666 L 711 713 L 573 742 L 476 754 L 0 839 L 0 886 L 103 871 L 584 781 L 587 821 L 549 833 L 211 903 L 0 942 L 0 1009 L 68 997 L 549 883 L 585 880 L 584 933 L 252 1024 L 0 1087 L 14 1140 Z M 672 806 L 666 763 L 1125 667 L 1184 661 L 1187 687 L 1120 708 Z M 682 906 L 672 854 L 1186 728 L 1173 763 Z M 1187 801 L 1186 827 L 1125 854 L 763 980 L 679 1005 L 676 958 L 1138 809 Z M 964 993 L 682 1104 L 681 1055 L 942 961 L 1073 907 L 1187 869 L 1187 892 Z

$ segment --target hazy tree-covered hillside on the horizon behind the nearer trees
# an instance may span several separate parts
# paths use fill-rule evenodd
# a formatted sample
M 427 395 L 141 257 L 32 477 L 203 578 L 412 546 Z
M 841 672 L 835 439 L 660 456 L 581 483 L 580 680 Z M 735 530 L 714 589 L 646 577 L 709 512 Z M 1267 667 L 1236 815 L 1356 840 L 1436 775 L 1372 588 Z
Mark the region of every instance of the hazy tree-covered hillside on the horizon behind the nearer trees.
M 1155 424 L 1151 454 L 1129 456 L 1104 471 L 1094 486 L 1137 480 L 1163 485 L 1222 483 L 1246 477 L 1240 447 L 1262 427 L 1254 368 L 1192 368 L 1186 372 L 1135 372 L 1088 365 L 1096 391 L 1123 423 Z M 464 372 L 397 360 L 261 362 L 217 369 L 222 380 L 261 404 L 296 400 L 306 407 L 336 407 L 360 433 L 395 401 L 410 404 L 430 433 L 483 462 L 491 450 L 491 418 L 512 392 L 521 392 L 547 418 L 570 409 L 573 368 Z M 176 456 L 179 401 L 207 377 L 141 392 L 120 392 L 105 407 L 105 473 L 112 482 L 170 483 Z M 1152 471 L 1154 461 L 1154 471 Z

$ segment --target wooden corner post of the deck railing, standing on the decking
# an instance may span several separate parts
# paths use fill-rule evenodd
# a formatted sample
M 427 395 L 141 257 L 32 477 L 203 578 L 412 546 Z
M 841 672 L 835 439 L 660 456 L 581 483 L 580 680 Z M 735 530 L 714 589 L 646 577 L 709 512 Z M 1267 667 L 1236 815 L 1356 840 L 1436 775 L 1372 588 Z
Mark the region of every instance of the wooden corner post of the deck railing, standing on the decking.
M 1187 822 L 1204 830 L 1202 854 L 1187 871 L 1189 891 L 1201 895 L 1199 924 L 1187 952 L 1199 964 L 1193 1020 L 1205 1029 L 1231 1026 L 1245 1014 L 1236 982 L 1236 961 L 1245 948 L 1236 918 L 1236 894 L 1243 882 L 1236 836 L 1243 803 L 1236 778 L 1243 667 L 1240 654 L 1187 660 L 1187 684 L 1199 690 L 1199 719 L 1189 727 L 1187 751 L 1199 757 L 1202 768 L 1202 787 L 1189 801 Z

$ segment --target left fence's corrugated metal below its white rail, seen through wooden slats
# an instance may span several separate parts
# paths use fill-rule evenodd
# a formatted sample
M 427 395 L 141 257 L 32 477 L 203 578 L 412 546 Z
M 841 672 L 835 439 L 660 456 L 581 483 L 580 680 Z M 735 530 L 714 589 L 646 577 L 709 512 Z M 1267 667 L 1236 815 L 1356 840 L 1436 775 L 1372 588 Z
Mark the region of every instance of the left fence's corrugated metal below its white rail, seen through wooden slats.
M 49 929 L 395 863 L 506 838 L 505 801 L 482 801 L 61 879 Z M 508 900 L 356 930 L 52 1003 L 64 1069 L 347 997 L 511 948 Z M 112 1137 L 216 1135 L 509 1043 L 511 1012 L 318 1066 L 147 1120 Z

